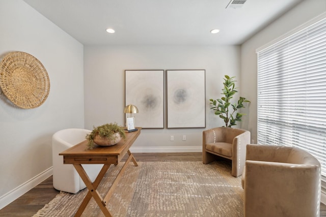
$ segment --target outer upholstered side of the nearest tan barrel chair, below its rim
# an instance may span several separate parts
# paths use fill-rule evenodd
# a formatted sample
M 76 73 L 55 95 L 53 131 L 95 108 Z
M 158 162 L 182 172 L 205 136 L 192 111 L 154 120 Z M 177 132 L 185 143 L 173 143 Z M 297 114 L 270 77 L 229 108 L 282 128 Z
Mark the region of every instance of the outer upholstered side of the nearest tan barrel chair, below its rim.
M 245 216 L 316 216 L 319 194 L 318 165 L 246 161 Z

